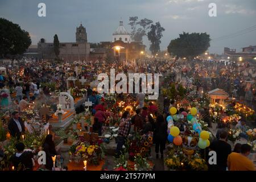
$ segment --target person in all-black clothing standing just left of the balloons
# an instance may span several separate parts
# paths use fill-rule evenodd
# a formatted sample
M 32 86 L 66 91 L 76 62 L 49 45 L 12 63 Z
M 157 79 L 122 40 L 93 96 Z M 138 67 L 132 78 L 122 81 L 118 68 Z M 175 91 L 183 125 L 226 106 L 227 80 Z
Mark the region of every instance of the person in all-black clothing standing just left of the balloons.
M 159 158 L 159 148 L 161 159 L 163 159 L 163 151 L 166 148 L 166 139 L 168 136 L 167 129 L 167 123 L 164 121 L 163 115 L 158 115 L 158 117 L 156 118 L 154 133 L 156 159 Z

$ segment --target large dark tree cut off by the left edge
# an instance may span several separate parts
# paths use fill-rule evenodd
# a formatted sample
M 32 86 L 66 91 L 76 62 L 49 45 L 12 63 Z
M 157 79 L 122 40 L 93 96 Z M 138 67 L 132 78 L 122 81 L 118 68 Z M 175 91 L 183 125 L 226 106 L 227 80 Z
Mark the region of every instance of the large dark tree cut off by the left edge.
M 31 45 L 30 34 L 18 24 L 0 18 L 0 57 L 22 54 Z

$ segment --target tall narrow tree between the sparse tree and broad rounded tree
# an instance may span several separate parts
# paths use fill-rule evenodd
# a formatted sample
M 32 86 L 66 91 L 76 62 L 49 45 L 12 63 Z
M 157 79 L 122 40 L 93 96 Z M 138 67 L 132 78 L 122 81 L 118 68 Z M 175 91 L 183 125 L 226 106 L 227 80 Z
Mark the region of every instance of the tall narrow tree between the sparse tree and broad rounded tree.
M 161 27 L 159 22 L 156 22 L 155 24 L 151 24 L 150 31 L 147 33 L 147 38 L 151 42 L 150 44 L 150 51 L 152 55 L 155 55 L 157 52 L 160 51 L 160 43 L 161 38 L 163 36 L 162 32 L 164 31 L 164 28 Z

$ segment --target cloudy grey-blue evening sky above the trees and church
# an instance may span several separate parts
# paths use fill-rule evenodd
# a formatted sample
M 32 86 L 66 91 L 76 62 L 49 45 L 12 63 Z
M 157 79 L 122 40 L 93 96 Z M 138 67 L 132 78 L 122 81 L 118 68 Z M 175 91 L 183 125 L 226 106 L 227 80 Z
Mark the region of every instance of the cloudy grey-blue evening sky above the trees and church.
M 46 3 L 46 17 L 38 16 L 41 2 Z M 209 3 L 216 3 L 217 17 L 208 15 Z M 129 16 L 160 22 L 166 29 L 161 49 L 183 31 L 210 34 L 212 53 L 256 45 L 255 0 L 0 0 L 0 17 L 30 32 L 32 44 L 40 38 L 53 42 L 55 34 L 60 42 L 75 42 L 80 22 L 89 42 L 110 41 L 121 18 L 130 31 Z M 149 47 L 146 37 L 144 44 Z

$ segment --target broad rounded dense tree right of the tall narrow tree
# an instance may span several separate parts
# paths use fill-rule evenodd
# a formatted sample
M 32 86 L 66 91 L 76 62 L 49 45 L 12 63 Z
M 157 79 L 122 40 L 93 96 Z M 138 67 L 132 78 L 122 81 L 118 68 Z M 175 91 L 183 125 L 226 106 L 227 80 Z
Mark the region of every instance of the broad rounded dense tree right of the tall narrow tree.
M 168 46 L 168 52 L 177 57 L 198 56 L 207 51 L 210 47 L 210 35 L 205 33 L 186 33 L 179 34 L 179 38 L 171 40 Z

